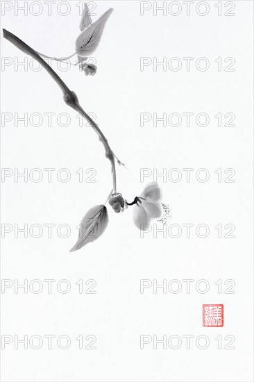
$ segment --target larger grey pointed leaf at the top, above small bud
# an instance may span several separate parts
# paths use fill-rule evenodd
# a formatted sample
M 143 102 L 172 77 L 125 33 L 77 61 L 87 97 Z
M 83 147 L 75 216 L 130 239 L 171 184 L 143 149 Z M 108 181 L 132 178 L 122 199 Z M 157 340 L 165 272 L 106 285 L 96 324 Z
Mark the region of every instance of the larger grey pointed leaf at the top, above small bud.
M 101 40 L 105 22 L 113 12 L 113 8 L 107 10 L 96 22 L 88 26 L 76 40 L 76 52 L 78 56 L 91 56 Z

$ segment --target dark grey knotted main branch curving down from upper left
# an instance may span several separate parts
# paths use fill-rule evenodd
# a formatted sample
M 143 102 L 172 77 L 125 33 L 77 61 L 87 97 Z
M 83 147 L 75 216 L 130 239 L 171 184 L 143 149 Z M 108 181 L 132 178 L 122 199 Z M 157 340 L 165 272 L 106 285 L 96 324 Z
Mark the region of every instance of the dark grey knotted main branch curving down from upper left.
M 25 44 L 24 41 L 20 40 L 19 38 L 17 38 L 17 36 L 13 35 L 9 31 L 6 31 L 6 29 L 3 29 L 3 38 L 6 38 L 6 40 L 10 41 L 18 49 L 20 49 L 24 53 L 28 54 L 28 56 L 31 56 L 35 60 L 37 60 L 38 63 L 40 63 L 42 65 L 42 67 L 44 67 L 44 69 L 46 69 L 46 72 L 48 72 L 50 74 L 50 76 L 53 78 L 54 81 L 56 81 L 56 83 L 58 84 L 58 86 L 62 90 L 65 103 L 68 106 L 70 106 L 71 108 L 73 108 L 74 110 L 76 110 L 79 114 L 81 114 L 82 117 L 84 117 L 87 120 L 87 122 L 89 122 L 91 124 L 92 128 L 99 135 L 99 139 L 101 140 L 101 142 L 103 143 L 103 146 L 105 147 L 106 158 L 108 158 L 108 160 L 110 160 L 111 168 L 112 168 L 112 178 L 113 178 L 113 192 L 117 192 L 117 179 L 116 179 L 117 176 L 116 176 L 116 170 L 115 170 L 115 155 L 114 155 L 112 149 L 110 149 L 110 145 L 108 144 L 108 140 L 105 138 L 105 135 L 102 133 L 99 126 L 97 126 L 96 123 L 94 122 L 94 120 L 89 115 L 87 115 L 87 113 L 85 113 L 85 110 L 83 110 L 83 108 L 81 108 L 81 106 L 78 102 L 78 97 L 76 96 L 76 94 L 73 91 L 69 90 L 69 88 L 67 87 L 67 85 L 65 85 L 65 83 L 62 81 L 60 76 L 58 76 L 58 74 L 56 74 L 56 72 L 46 63 L 46 61 L 43 60 L 42 57 L 39 56 L 38 53 L 36 53 L 36 51 L 34 49 L 29 47 L 27 44 Z

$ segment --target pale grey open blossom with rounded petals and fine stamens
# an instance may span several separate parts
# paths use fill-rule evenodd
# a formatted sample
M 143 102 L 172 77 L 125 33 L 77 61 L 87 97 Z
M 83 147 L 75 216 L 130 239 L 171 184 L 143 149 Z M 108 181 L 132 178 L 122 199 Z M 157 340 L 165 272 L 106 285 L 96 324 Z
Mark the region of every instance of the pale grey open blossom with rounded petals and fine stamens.
M 149 224 L 151 219 L 162 215 L 161 198 L 162 192 L 158 183 L 146 185 L 139 197 L 139 202 L 134 206 L 134 222 L 139 229 L 144 230 L 145 224 Z

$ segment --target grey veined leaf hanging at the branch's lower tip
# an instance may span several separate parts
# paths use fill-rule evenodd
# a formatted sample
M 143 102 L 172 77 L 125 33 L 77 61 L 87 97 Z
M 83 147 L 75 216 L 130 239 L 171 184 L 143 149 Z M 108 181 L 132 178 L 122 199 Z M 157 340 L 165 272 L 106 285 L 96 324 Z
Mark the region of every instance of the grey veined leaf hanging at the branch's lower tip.
M 83 217 L 78 234 L 78 241 L 70 252 L 77 251 L 88 242 L 98 239 L 108 226 L 108 211 L 103 204 L 94 206 Z

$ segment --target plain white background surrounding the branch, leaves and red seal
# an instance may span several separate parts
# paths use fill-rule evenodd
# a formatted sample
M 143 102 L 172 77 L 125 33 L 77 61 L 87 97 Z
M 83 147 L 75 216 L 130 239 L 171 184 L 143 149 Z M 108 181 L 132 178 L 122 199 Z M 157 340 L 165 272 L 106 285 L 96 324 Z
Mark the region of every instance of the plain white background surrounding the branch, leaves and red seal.
M 2 2 L 3 3 L 3 2 Z M 8 2 L 10 3 L 10 2 Z M 15 6 L 13 2 L 13 7 Z M 24 1 L 19 1 L 24 4 Z M 57 4 L 58 2 L 56 2 Z M 170 3 L 170 2 L 169 2 Z M 78 67 L 62 72 L 53 68 L 78 94 L 81 106 L 96 114 L 112 149 L 126 163 L 117 167 L 118 191 L 128 201 L 142 192 L 153 179 L 140 181 L 140 169 L 157 169 L 167 174 L 180 169 L 183 178 L 173 183 L 167 177 L 158 182 L 163 190 L 163 202 L 171 209 L 170 224 L 179 224 L 179 238 L 166 238 L 153 230 L 140 237 L 133 224 L 131 208 L 121 214 L 109 209 L 108 229 L 98 241 L 69 253 L 76 242 L 75 228 L 85 212 L 103 204 L 112 188 L 110 163 L 94 131 L 78 126 L 76 113 L 62 101 L 62 93 L 43 70 L 36 72 L 15 63 L 24 62 L 26 55 L 1 36 L 3 58 L 13 63 L 2 67 L 1 112 L 69 113 L 71 124 L 59 126 L 56 117 L 51 127 L 43 119 L 42 126 L 14 119 L 2 126 L 2 167 L 28 172 L 33 168 L 63 167 L 71 172 L 67 183 L 53 175 L 51 183 L 44 178 L 39 183 L 14 176 L 2 180 L 2 224 L 68 224 L 71 234 L 60 238 L 53 229 L 52 238 L 46 228 L 41 238 L 24 238 L 24 233 L 6 233 L 2 240 L 2 279 L 69 280 L 71 290 L 61 294 L 53 287 L 48 294 L 46 283 L 41 293 L 14 288 L 1 294 L 2 335 L 53 334 L 68 335 L 69 349 L 59 349 L 53 342 L 47 349 L 15 349 L 14 342 L 2 351 L 2 381 L 252 381 L 252 1 L 235 1 L 235 16 L 224 15 L 228 8 L 222 3 L 223 15 L 218 16 L 216 2 L 209 3 L 208 15 L 191 14 L 186 6 L 178 16 L 167 12 L 153 15 L 153 8 L 140 15 L 139 1 L 98 1 L 93 20 L 108 8 L 114 12 L 105 26 L 99 48 L 94 53 L 98 72 L 85 76 Z M 34 16 L 15 8 L 1 17 L 2 28 L 15 33 L 34 49 L 49 56 L 67 56 L 74 52 L 74 42 L 80 33 L 78 7 L 70 2 L 71 12 L 59 15 L 56 5 L 52 15 L 41 1 L 43 12 Z M 162 5 L 162 1 L 158 2 Z M 151 3 L 153 6 L 153 3 Z M 175 9 L 175 8 L 173 8 Z M 65 8 L 63 6 L 62 12 Z M 201 8 L 201 10 L 203 10 Z M 36 11 L 36 8 L 35 8 Z M 153 70 L 153 65 L 140 70 L 140 57 L 169 60 L 180 58 L 183 67 L 173 72 L 167 67 Z M 183 57 L 194 57 L 190 71 Z M 196 69 L 196 59 L 208 58 L 210 68 Z M 235 72 L 218 71 L 218 57 L 235 58 Z M 16 61 L 15 61 L 16 60 Z M 28 57 L 28 63 L 30 62 Z M 6 62 L 6 61 L 5 61 Z M 223 69 L 226 64 L 223 63 Z M 36 65 L 35 65 L 36 67 Z M 207 113 L 210 124 L 187 127 L 158 126 L 153 122 L 140 126 L 140 113 Z M 235 127 L 217 125 L 214 115 L 234 113 Z M 80 183 L 75 173 L 79 168 L 94 168 L 95 183 Z M 189 183 L 183 168 L 194 168 Z M 208 169 L 210 179 L 196 180 L 196 170 Z M 235 169 L 235 183 L 221 183 L 214 173 Z M 89 174 L 85 174 L 87 177 Z M 223 180 L 225 179 L 223 174 Z M 154 221 L 153 223 L 156 223 Z M 191 237 L 186 237 L 183 224 L 194 224 Z M 208 238 L 198 238 L 198 224 L 210 227 Z M 218 238 L 214 226 L 234 224 L 235 238 Z M 162 227 L 158 224 L 158 227 Z M 223 229 L 223 236 L 228 230 Z M 94 279 L 96 294 L 79 294 L 76 282 Z M 183 289 L 178 294 L 152 288 L 141 294 L 140 279 L 178 279 Z M 186 293 L 183 279 L 193 279 Z M 196 282 L 205 279 L 210 290 L 196 291 Z M 235 281 L 235 294 L 219 294 L 218 279 Z M 174 285 L 176 286 L 176 285 Z M 228 285 L 229 286 L 229 285 Z M 224 304 L 223 328 L 203 328 L 202 304 Z M 96 335 L 96 349 L 78 349 L 78 335 Z M 153 344 L 139 347 L 139 336 L 179 335 L 180 349 L 153 349 Z M 183 335 L 194 335 L 191 348 L 186 349 Z M 196 337 L 207 335 L 208 349 L 196 347 Z M 218 335 L 223 347 L 226 335 L 235 336 L 235 349 L 218 349 Z

